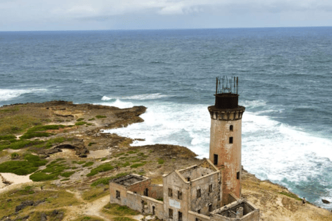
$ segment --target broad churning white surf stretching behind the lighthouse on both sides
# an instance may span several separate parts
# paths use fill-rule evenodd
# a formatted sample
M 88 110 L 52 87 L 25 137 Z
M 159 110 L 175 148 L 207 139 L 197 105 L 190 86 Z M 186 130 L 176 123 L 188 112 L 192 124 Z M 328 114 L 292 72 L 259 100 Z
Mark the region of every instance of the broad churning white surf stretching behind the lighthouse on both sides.
M 104 132 L 145 139 L 135 141 L 133 146 L 176 144 L 187 146 L 200 158 L 209 156 L 210 114 L 206 105 L 153 101 L 136 104 L 120 100 L 109 103 L 116 104 L 147 106 L 146 113 L 141 115 L 145 121 Z M 298 183 L 308 182 L 307 177 L 321 177 L 331 164 L 331 146 L 329 138 L 315 137 L 268 116 L 250 111 L 243 115 L 242 164 L 260 179 L 285 184 L 285 178 Z

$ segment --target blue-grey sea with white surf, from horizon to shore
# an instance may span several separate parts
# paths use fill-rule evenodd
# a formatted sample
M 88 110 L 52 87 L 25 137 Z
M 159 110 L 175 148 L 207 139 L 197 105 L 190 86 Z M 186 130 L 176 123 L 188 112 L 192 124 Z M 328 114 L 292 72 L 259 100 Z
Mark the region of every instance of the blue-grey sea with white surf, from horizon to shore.
M 239 77 L 242 164 L 332 201 L 332 27 L 0 32 L 0 106 L 147 106 L 111 130 L 208 157 L 215 78 Z

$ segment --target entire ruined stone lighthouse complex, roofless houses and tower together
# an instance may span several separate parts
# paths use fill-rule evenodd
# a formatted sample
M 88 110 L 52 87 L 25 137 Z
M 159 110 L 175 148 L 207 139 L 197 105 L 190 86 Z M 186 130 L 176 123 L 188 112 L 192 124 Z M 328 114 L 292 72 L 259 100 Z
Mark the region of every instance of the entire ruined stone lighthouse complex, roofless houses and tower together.
M 149 177 L 126 175 L 110 181 L 111 203 L 169 221 L 258 221 L 259 209 L 241 198 L 241 119 L 238 79 L 216 79 L 211 115 L 210 157 L 199 165 Z M 163 199 L 159 201 L 156 199 Z

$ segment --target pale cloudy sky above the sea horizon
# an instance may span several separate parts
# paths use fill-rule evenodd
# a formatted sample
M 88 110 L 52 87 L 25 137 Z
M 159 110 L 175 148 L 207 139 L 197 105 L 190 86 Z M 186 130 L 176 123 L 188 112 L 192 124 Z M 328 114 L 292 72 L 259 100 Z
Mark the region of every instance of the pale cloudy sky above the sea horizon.
M 0 31 L 332 26 L 332 0 L 0 0 Z

